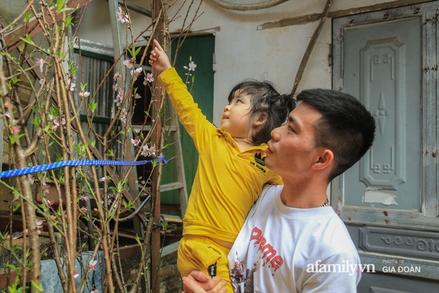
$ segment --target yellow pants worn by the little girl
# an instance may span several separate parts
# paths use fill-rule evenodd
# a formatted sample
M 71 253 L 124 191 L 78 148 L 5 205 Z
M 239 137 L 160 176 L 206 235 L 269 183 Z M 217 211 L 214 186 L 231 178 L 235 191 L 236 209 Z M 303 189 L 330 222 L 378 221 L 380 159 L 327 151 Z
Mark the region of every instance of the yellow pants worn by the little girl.
M 192 270 L 200 270 L 206 274 L 216 269 L 216 276 L 227 281 L 227 292 L 232 293 L 228 268 L 228 252 L 230 249 L 214 242 L 209 237 L 200 235 L 184 235 L 178 246 L 177 267 L 182 277 Z M 215 268 L 216 263 L 216 268 Z

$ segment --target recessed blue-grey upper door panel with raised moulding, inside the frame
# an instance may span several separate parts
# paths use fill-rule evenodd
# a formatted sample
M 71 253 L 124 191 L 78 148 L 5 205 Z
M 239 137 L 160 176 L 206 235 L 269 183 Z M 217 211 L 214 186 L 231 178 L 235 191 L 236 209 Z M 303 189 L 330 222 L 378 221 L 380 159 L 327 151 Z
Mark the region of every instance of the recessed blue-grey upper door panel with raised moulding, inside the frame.
M 344 91 L 359 97 L 377 121 L 374 145 L 345 174 L 346 194 L 363 196 L 345 198 L 346 205 L 420 211 L 421 21 L 344 32 Z

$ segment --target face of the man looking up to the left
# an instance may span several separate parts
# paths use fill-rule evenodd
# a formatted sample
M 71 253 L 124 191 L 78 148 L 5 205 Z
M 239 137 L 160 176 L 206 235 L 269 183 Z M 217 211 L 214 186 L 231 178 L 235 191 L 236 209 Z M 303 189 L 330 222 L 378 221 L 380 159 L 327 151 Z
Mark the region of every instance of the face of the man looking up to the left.
M 287 124 L 272 130 L 265 165 L 284 181 L 307 178 L 311 165 L 318 160 L 315 125 L 321 117 L 316 108 L 300 103 L 289 113 Z

